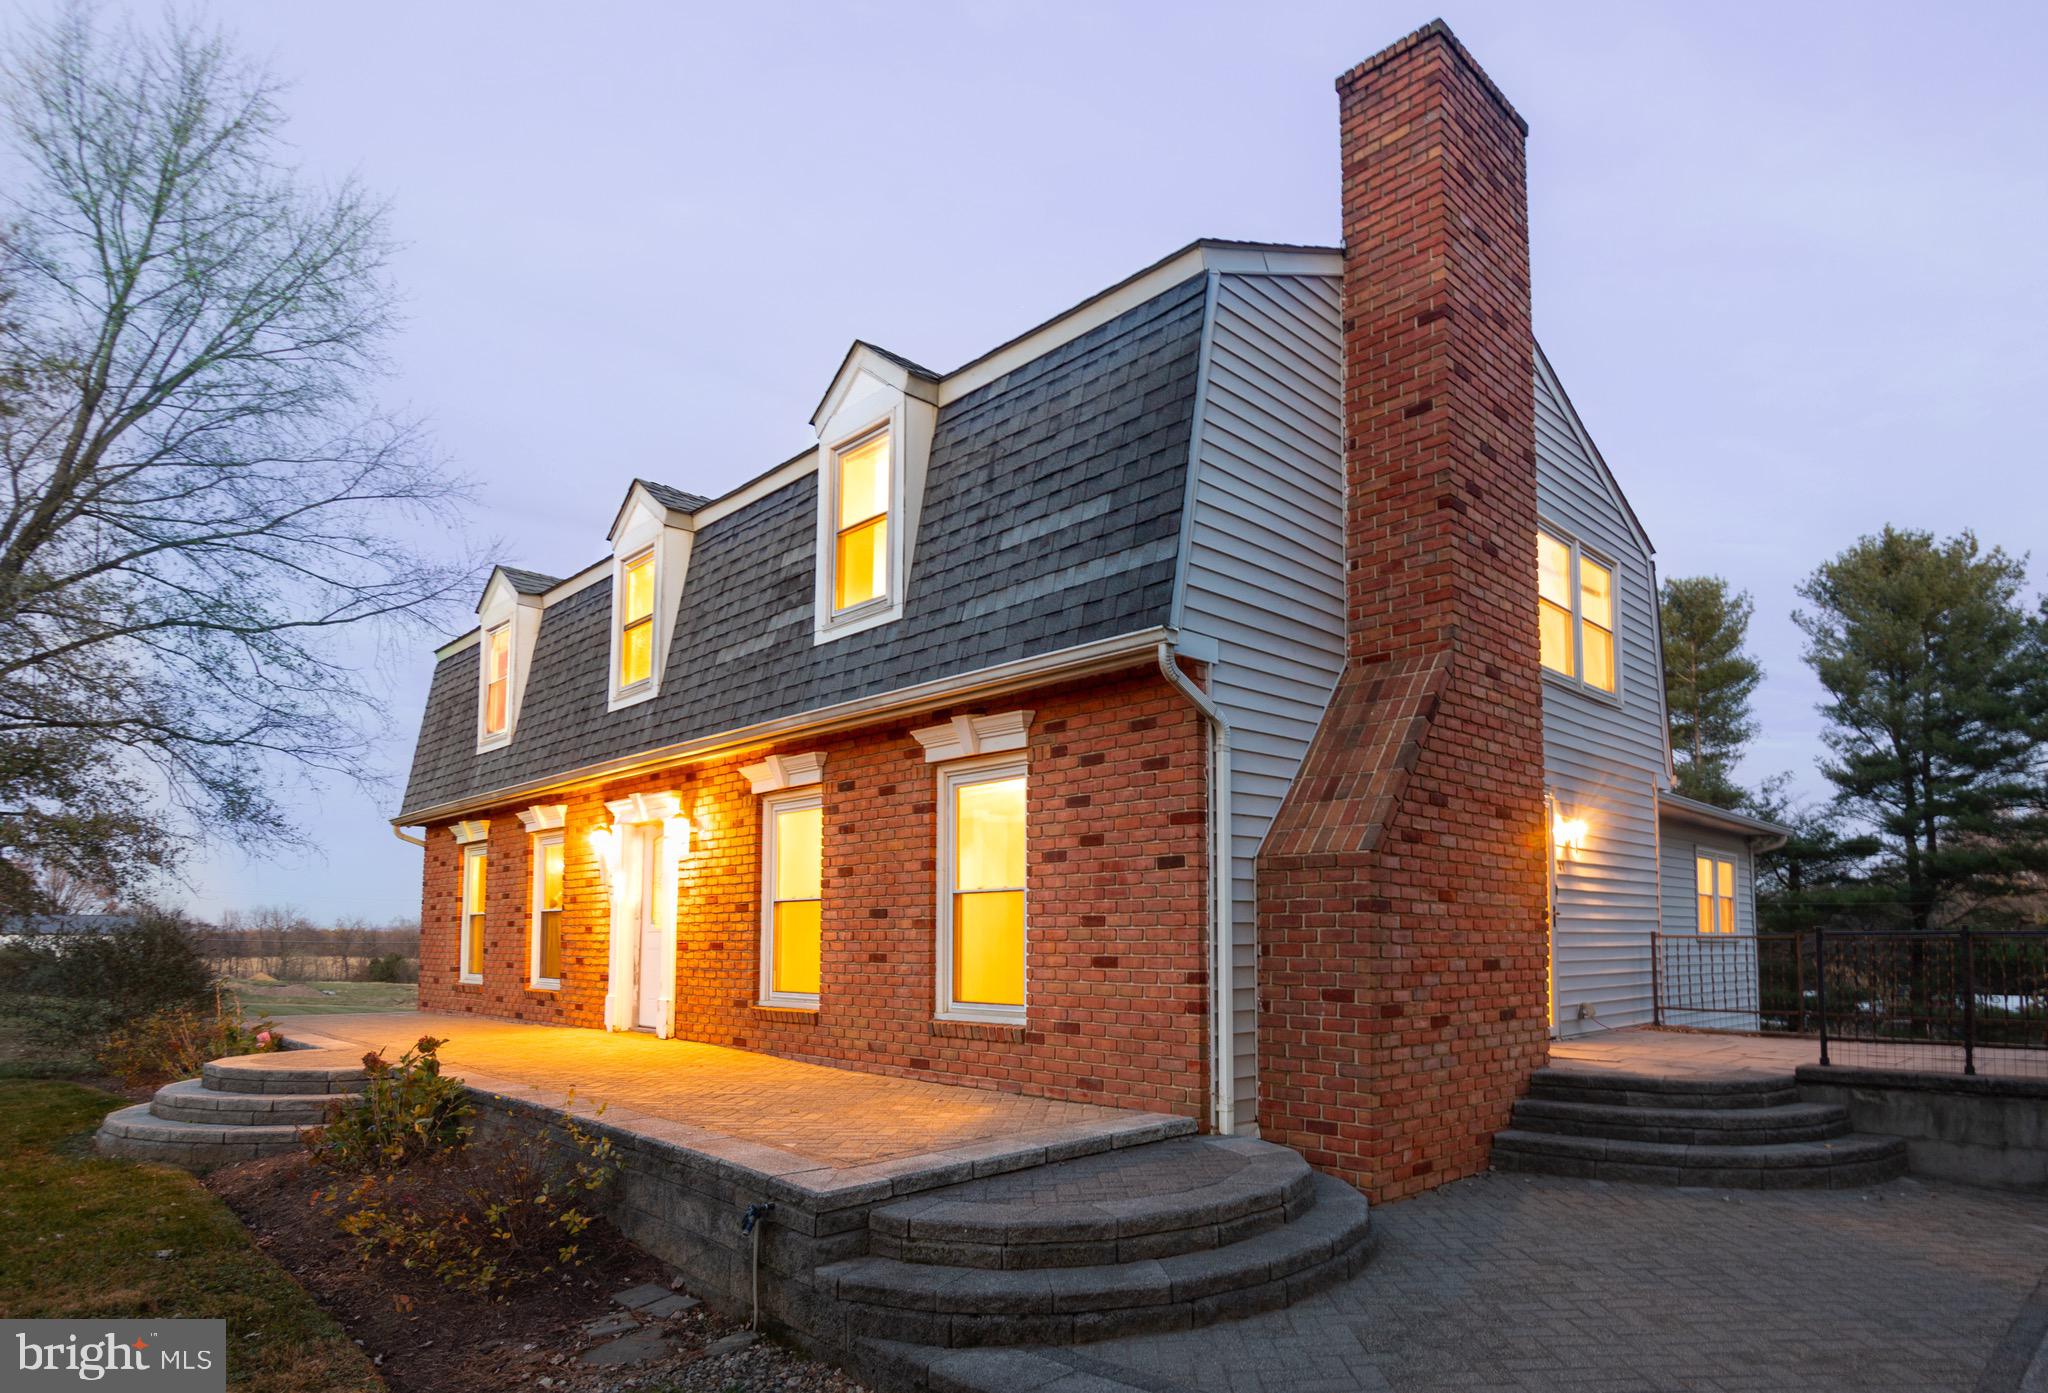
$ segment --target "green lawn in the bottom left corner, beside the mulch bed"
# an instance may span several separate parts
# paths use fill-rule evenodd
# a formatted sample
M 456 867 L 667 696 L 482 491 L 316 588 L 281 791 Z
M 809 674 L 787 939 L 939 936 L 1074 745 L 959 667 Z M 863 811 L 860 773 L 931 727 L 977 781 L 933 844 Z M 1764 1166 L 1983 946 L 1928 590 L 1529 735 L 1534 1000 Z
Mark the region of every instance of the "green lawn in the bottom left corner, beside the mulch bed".
M 227 1387 L 371 1393 L 369 1358 L 248 1229 L 180 1170 L 98 1159 L 123 1100 L 76 1084 L 0 1082 L 0 1315 L 215 1317 Z

